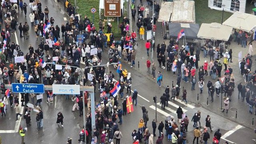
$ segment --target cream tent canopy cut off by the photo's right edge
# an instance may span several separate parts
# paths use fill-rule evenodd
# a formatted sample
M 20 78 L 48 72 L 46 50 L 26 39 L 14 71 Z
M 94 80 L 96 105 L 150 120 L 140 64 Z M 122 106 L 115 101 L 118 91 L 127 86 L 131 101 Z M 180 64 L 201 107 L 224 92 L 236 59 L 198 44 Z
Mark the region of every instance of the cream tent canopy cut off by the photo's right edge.
M 242 12 L 235 12 L 225 22 L 225 26 L 231 26 L 239 30 L 250 32 L 256 26 L 256 16 Z

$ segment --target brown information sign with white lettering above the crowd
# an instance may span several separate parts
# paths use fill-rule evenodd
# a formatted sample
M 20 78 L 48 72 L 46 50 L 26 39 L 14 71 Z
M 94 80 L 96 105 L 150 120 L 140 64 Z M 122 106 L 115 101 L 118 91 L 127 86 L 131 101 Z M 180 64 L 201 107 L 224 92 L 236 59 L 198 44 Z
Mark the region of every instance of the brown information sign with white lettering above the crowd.
M 121 16 L 121 0 L 104 0 L 104 16 Z

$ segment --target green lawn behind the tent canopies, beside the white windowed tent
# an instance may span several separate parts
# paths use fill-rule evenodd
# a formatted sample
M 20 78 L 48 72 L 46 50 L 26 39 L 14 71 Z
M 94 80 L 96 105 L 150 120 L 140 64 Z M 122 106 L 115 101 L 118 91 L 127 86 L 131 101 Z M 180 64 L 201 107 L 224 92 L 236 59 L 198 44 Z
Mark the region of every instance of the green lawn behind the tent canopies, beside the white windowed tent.
M 201 26 L 202 23 L 221 23 L 222 11 L 208 8 L 208 0 L 194 0 L 195 1 L 195 13 L 196 23 Z M 224 12 L 223 22 L 227 20 L 232 13 Z

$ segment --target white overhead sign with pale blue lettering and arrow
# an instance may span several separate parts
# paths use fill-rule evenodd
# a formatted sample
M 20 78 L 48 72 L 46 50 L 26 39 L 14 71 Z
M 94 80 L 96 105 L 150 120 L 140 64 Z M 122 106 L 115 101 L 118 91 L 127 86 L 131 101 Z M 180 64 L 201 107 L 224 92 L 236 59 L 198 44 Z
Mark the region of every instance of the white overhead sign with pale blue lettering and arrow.
M 52 92 L 53 94 L 80 94 L 80 86 L 71 84 L 53 84 Z

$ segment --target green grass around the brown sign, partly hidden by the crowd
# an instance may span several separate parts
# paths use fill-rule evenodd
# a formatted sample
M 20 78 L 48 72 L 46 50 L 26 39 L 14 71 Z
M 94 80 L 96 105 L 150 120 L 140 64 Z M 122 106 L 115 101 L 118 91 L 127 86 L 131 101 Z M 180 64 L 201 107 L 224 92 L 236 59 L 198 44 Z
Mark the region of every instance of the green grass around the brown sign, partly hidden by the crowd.
M 73 6 L 75 6 L 74 0 L 70 0 L 71 4 Z M 80 14 L 80 18 L 81 20 L 84 20 L 84 16 L 86 15 L 90 21 L 92 22 L 92 12 L 91 9 L 92 8 L 96 8 L 96 12 L 94 13 L 94 25 L 96 26 L 96 30 L 99 29 L 98 26 L 98 22 L 100 20 L 100 14 L 99 14 L 99 4 L 100 4 L 100 0 L 76 0 L 76 4 L 78 6 L 79 9 L 76 10 L 76 12 L 78 14 Z M 126 6 L 126 5 L 124 5 Z M 126 7 L 125 7 L 126 8 Z M 103 10 L 104 12 L 104 10 Z M 126 16 L 126 12 L 124 13 L 124 16 Z M 109 17 L 114 19 L 114 17 Z M 106 18 L 105 18 L 106 19 Z M 122 22 L 123 18 L 119 18 L 119 24 L 120 22 Z M 105 28 L 104 28 L 104 32 L 107 32 L 107 22 L 105 22 Z M 118 36 L 120 36 L 121 32 L 120 32 L 120 28 L 118 28 L 118 24 L 117 24 L 117 19 L 115 19 L 114 22 L 111 22 L 112 24 L 112 30 L 111 32 L 113 32 L 114 36 L 116 38 L 118 38 Z M 119 31 L 118 31 L 119 30 Z

